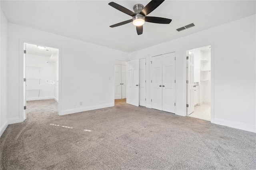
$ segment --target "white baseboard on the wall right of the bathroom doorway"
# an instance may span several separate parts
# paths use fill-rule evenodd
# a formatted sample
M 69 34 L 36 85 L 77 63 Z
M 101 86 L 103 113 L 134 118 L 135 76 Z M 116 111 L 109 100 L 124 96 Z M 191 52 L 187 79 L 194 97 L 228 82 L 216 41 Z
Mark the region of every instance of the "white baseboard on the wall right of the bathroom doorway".
M 226 121 L 226 120 L 223 120 L 223 119 L 214 118 L 214 124 L 223 125 L 223 126 L 232 127 L 232 128 L 238 128 L 238 129 L 246 130 L 246 131 L 249 131 L 249 132 L 256 132 L 256 127 L 255 126 L 247 125 L 247 124 L 244 124 L 244 123 L 238 123 L 238 122 Z

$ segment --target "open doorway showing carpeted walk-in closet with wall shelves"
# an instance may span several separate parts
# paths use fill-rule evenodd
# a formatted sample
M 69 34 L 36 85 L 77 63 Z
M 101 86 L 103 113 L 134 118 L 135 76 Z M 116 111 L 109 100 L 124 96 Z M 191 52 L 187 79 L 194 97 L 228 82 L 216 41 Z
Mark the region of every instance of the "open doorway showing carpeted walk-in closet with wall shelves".
M 24 119 L 58 114 L 59 49 L 24 43 Z

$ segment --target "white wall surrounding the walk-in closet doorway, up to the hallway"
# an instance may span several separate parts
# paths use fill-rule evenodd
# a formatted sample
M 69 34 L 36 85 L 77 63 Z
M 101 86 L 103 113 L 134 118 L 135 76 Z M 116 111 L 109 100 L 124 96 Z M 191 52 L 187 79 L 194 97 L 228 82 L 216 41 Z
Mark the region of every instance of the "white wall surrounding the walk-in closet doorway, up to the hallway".
M 8 23 L 8 118 L 23 121 L 22 41 L 60 47 L 60 115 L 114 106 L 114 59 L 127 60 L 127 53 L 72 38 Z M 60 73 L 61 74 L 61 73 Z M 62 81 L 62 82 L 61 82 Z M 62 83 L 62 84 L 60 84 Z M 82 105 L 79 103 L 82 102 Z M 21 103 L 21 104 L 20 104 Z

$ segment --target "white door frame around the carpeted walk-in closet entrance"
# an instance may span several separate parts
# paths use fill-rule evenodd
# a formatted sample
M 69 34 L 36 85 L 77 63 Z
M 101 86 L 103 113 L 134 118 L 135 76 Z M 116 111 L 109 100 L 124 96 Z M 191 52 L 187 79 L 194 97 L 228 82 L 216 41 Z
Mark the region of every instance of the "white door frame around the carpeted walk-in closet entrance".
M 24 43 L 30 43 L 30 44 L 35 44 L 35 45 L 42 45 L 45 47 L 52 47 L 59 49 L 59 58 L 58 58 L 58 65 L 59 65 L 59 73 L 58 73 L 58 78 L 59 78 L 59 89 L 58 89 L 58 115 L 60 115 L 62 111 L 62 47 L 58 45 L 52 45 L 50 43 L 45 43 L 45 42 L 40 42 L 40 41 L 34 41 L 34 40 L 25 40 L 25 39 L 20 39 L 20 55 L 19 55 L 19 65 L 20 65 L 20 81 L 19 81 L 19 120 L 20 122 L 23 122 L 24 119 Z

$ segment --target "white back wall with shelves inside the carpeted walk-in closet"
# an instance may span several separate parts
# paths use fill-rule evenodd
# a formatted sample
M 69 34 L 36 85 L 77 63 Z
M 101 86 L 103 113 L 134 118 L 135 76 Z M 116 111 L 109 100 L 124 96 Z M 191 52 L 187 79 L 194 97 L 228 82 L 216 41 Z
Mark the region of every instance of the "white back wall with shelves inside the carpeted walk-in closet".
M 49 59 L 47 56 L 26 54 L 27 101 L 54 99 L 54 85 L 50 83 L 54 81 L 54 64 Z

